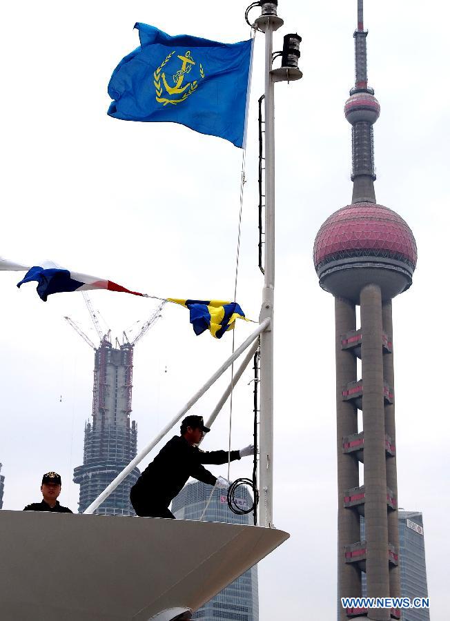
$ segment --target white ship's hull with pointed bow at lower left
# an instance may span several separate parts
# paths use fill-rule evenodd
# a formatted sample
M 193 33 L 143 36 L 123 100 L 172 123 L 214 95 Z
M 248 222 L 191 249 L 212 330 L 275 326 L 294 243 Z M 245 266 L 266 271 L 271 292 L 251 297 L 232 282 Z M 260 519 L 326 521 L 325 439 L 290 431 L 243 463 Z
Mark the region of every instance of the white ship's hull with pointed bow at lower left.
M 288 537 L 242 524 L 0 511 L 0 619 L 170 621 Z

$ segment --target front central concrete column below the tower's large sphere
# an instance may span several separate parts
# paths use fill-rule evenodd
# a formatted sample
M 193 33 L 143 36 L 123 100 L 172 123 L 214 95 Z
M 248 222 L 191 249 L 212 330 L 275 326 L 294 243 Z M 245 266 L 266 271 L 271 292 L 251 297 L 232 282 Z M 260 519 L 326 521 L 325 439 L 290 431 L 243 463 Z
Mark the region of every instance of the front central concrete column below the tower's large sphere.
M 362 288 L 360 304 L 367 595 L 388 597 L 387 486 L 380 286 L 369 284 Z M 385 621 L 390 618 L 391 613 L 388 609 L 369 611 L 369 619 Z

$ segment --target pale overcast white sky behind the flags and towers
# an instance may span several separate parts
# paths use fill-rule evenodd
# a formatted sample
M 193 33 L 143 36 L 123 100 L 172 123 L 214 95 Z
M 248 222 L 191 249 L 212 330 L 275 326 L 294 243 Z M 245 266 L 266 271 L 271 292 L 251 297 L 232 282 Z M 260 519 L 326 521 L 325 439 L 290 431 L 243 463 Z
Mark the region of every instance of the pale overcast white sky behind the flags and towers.
M 411 289 L 394 302 L 399 504 L 424 513 L 433 621 L 448 618 L 449 502 L 448 48 L 449 8 L 366 0 L 378 201 L 402 215 L 418 242 Z M 156 295 L 233 297 L 242 152 L 175 124 L 106 115 L 108 79 L 138 45 L 135 21 L 170 34 L 248 38 L 246 3 L 117 0 L 3 8 L 0 254 L 50 258 Z M 255 11 L 257 14 L 257 11 Z M 299 32 L 304 79 L 275 87 L 277 279 L 275 319 L 275 525 L 291 539 L 260 564 L 260 620 L 335 618 L 336 473 L 333 298 L 317 283 L 320 224 L 351 201 L 351 129 L 342 112 L 353 86 L 356 0 L 280 1 Z M 255 45 L 247 184 L 237 300 L 257 319 L 257 98 L 264 41 Z M 39 500 L 43 472 L 63 477 L 62 504 L 77 509 L 72 471 L 82 462 L 91 411 L 93 351 L 81 294 L 43 304 L 34 286 L 2 273 L 0 461 L 4 509 Z M 147 299 L 91 295 L 119 334 L 146 319 Z M 237 342 L 253 329 L 241 324 Z M 144 446 L 231 352 L 231 335 L 195 337 L 188 312 L 170 306 L 135 350 L 133 420 Z M 167 372 L 165 372 L 167 370 Z M 251 370 L 235 392 L 235 448 L 251 442 Z M 215 386 L 193 410 L 208 416 Z M 205 448 L 228 445 L 228 411 Z M 148 460 L 151 456 L 148 457 Z M 144 462 L 143 466 L 148 462 Z M 226 475 L 226 466 L 215 473 Z M 232 476 L 251 474 L 250 460 Z M 300 612 L 301 611 L 301 612 Z

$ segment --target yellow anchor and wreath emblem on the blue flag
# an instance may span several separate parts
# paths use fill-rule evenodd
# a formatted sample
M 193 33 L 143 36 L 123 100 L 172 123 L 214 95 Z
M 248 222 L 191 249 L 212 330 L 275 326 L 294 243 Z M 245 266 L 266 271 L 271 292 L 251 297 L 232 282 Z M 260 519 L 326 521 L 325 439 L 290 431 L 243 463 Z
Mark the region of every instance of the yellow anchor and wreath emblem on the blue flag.
M 182 66 L 181 68 L 179 68 L 179 70 L 175 72 L 175 74 L 171 76 L 173 86 L 170 86 L 170 77 L 168 79 L 166 77 L 166 72 L 162 70 L 174 54 L 175 50 L 173 50 L 173 52 L 170 52 L 170 54 L 166 56 L 164 61 L 153 73 L 153 83 L 155 84 L 156 101 L 162 103 L 163 106 L 167 106 L 168 103 L 173 103 L 174 105 L 176 105 L 177 103 L 186 101 L 189 95 L 192 95 L 193 92 L 197 90 L 198 86 L 198 80 L 192 80 L 190 82 L 184 83 L 184 77 L 186 76 L 186 74 L 190 73 L 192 68 L 197 65 L 192 55 L 190 54 L 190 50 L 185 52 L 184 55 L 177 55 L 177 58 L 182 61 Z M 201 79 L 205 77 L 202 63 L 199 63 L 199 75 Z M 166 97 L 163 97 L 164 90 L 166 90 Z

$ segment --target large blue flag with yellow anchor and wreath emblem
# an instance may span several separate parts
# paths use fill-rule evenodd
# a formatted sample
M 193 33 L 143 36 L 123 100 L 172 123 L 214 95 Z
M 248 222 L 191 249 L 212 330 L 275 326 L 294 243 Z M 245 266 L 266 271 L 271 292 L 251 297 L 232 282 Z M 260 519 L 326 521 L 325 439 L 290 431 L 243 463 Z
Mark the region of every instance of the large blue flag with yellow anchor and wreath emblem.
M 108 115 L 172 121 L 244 148 L 253 41 L 219 43 L 135 24 L 141 45 L 108 85 Z

